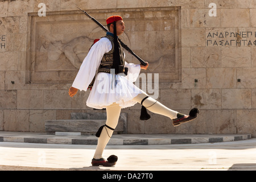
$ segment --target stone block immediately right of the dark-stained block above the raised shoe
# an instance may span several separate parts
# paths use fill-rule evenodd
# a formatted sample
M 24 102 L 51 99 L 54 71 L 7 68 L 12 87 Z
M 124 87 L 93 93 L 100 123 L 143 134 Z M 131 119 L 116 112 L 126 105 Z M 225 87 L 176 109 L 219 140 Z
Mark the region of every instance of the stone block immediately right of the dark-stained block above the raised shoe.
M 251 109 L 251 89 L 222 89 L 222 109 Z

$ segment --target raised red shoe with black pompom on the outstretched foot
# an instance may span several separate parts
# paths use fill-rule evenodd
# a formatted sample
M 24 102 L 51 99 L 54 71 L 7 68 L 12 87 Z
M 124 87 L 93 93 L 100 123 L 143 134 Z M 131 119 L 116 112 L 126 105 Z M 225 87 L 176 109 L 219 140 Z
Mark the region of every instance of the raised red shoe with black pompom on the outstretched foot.
M 193 121 L 194 119 L 197 118 L 198 114 L 199 114 L 199 109 L 197 108 L 191 109 L 191 111 L 189 112 L 189 115 L 178 113 L 177 118 L 172 119 L 172 125 L 179 126 L 181 123 L 187 123 L 187 122 Z

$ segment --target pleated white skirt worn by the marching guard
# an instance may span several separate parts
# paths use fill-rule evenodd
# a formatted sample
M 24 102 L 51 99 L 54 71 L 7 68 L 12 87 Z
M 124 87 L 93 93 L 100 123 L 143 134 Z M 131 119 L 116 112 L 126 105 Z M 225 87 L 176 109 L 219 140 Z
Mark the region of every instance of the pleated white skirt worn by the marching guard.
M 94 81 L 86 105 L 96 109 L 105 108 L 113 103 L 119 104 L 122 108 L 130 107 L 137 103 L 132 101 L 133 98 L 141 93 L 143 91 L 126 76 L 100 72 Z

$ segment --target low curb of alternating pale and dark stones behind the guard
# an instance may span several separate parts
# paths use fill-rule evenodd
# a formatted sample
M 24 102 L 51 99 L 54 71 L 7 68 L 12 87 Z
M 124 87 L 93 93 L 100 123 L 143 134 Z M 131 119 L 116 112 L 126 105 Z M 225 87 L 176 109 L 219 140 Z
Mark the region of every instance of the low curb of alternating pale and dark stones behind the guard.
M 119 134 L 113 135 L 108 145 L 159 145 L 230 142 L 250 139 L 251 134 Z M 47 144 L 89 144 L 96 145 L 94 135 L 47 135 L 45 133 L 20 133 L 0 131 L 0 142 L 47 143 Z

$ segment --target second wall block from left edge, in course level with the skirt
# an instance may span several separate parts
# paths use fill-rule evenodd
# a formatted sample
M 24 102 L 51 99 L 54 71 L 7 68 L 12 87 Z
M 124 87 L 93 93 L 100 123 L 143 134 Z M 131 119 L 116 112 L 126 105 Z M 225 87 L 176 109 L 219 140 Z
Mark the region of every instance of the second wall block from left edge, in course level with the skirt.
M 18 90 L 18 109 L 43 109 L 43 90 Z

